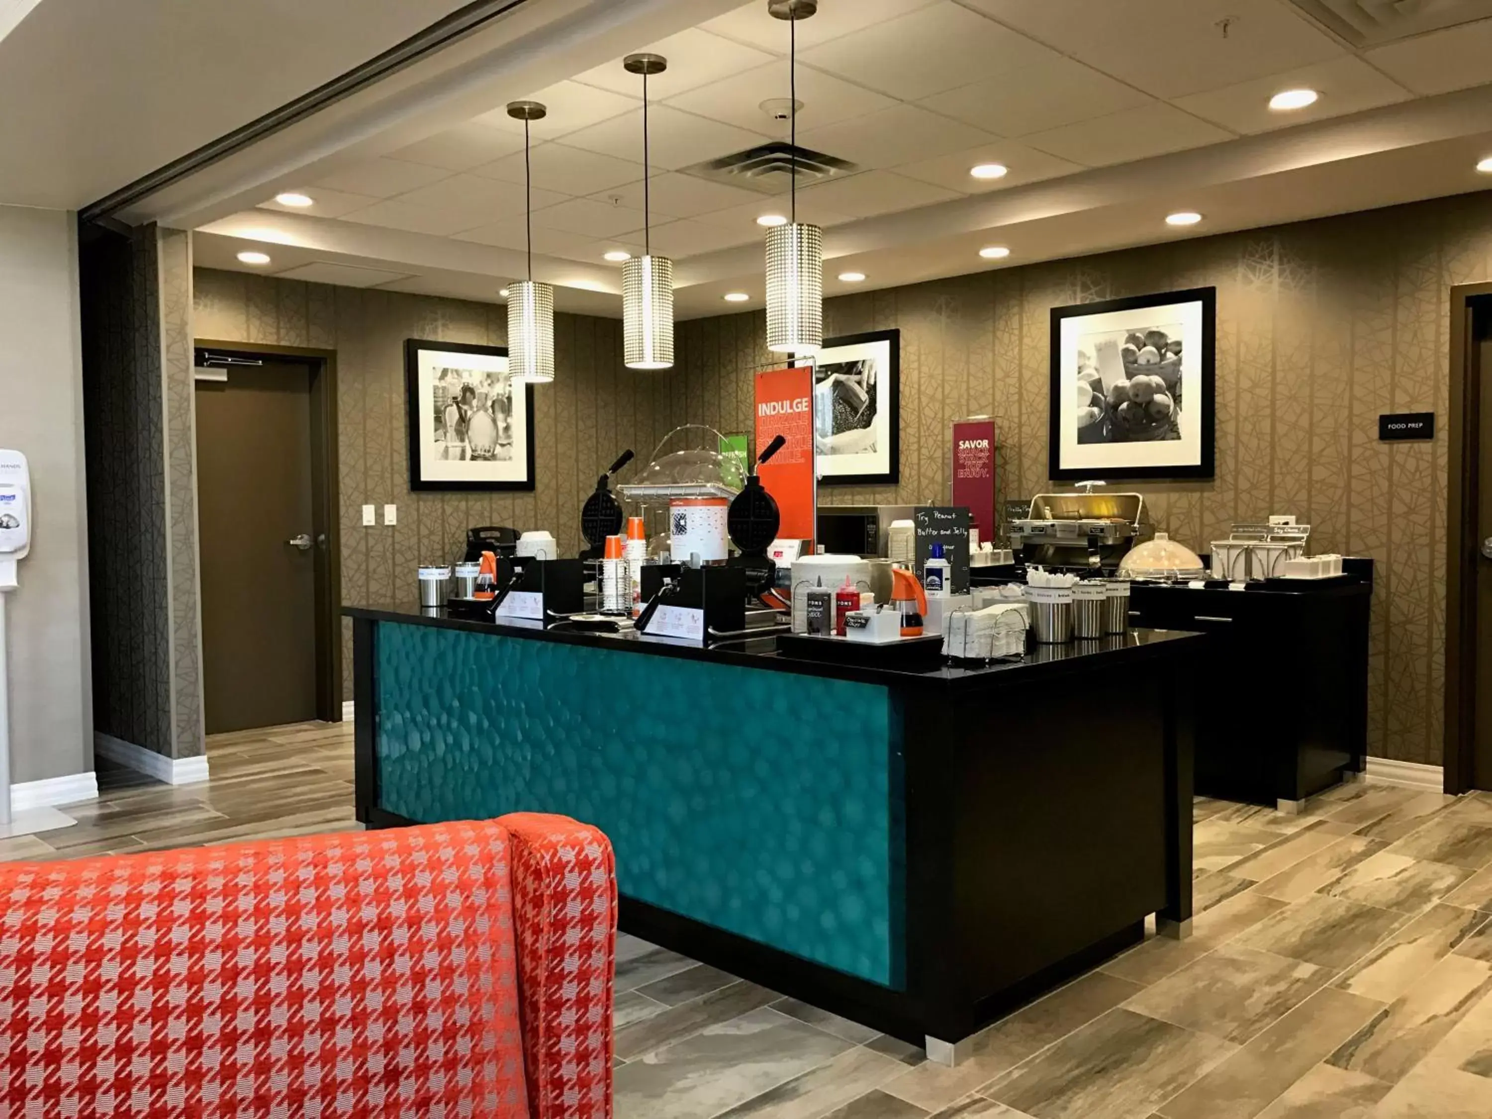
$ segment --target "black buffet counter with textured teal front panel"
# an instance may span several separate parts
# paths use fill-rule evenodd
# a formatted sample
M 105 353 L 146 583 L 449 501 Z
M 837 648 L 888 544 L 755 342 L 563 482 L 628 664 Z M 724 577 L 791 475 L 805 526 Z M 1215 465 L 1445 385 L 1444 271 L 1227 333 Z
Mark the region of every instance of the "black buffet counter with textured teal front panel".
M 935 1059 L 1149 915 L 1189 927 L 1204 636 L 867 668 L 345 613 L 358 819 L 594 824 L 624 930 Z

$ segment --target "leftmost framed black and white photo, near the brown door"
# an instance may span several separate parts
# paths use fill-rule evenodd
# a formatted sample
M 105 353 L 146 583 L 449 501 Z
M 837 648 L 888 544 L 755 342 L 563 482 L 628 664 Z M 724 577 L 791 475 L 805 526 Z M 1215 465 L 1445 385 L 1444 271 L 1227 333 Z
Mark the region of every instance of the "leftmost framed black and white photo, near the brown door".
M 534 400 L 507 349 L 404 342 L 410 489 L 533 489 Z

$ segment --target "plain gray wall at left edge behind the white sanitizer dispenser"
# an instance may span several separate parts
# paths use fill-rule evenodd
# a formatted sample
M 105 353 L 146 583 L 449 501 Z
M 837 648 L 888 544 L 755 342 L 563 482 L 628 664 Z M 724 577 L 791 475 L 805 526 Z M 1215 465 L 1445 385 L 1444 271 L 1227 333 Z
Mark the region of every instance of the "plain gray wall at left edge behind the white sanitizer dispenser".
M 31 466 L 9 594 L 10 779 L 93 768 L 78 245 L 72 213 L 0 206 L 0 446 Z

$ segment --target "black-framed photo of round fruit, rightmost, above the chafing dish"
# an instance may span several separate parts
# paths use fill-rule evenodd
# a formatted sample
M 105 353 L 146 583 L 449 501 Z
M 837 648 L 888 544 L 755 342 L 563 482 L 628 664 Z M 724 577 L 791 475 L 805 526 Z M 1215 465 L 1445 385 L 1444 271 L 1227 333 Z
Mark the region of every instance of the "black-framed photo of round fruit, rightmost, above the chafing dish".
M 1056 482 L 1213 476 L 1217 289 L 1052 309 Z

